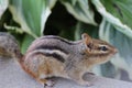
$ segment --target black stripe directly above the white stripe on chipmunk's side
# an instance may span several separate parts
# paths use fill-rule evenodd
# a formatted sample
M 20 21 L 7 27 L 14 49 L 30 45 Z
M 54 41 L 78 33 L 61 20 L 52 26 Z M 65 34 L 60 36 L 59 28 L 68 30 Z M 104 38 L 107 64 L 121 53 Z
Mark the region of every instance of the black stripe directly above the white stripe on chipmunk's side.
M 34 50 L 58 50 L 58 51 L 61 51 L 61 52 L 63 52 L 63 53 L 65 53 L 65 54 L 68 54 L 68 52 L 66 52 L 65 50 L 63 50 L 63 48 L 61 48 L 61 47 L 58 47 L 58 46 L 50 46 L 50 45 L 40 45 L 40 46 L 37 46 L 36 48 L 34 48 Z

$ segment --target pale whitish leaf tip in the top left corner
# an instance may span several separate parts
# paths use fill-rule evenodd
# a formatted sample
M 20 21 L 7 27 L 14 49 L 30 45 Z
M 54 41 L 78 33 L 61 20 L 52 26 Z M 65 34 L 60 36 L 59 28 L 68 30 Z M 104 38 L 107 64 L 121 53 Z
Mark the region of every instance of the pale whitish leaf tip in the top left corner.
M 7 10 L 8 4 L 9 4 L 9 0 L 0 0 L 0 19 L 3 12 Z

